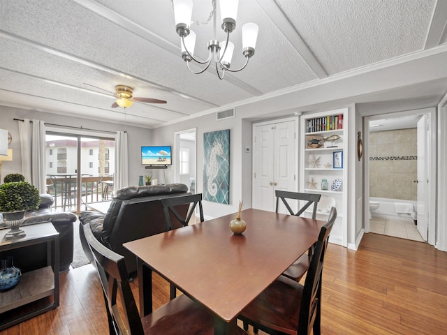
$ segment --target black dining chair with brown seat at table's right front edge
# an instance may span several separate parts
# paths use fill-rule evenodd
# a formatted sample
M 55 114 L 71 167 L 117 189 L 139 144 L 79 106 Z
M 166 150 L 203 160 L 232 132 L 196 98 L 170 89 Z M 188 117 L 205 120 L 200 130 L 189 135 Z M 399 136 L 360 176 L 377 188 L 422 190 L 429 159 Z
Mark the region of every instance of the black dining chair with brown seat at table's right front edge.
M 279 276 L 242 310 L 238 319 L 267 334 L 314 335 L 321 334 L 321 277 L 329 234 L 337 218 L 332 207 L 328 222 L 323 225 L 314 247 L 305 284 Z

